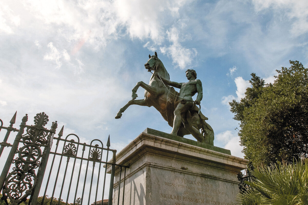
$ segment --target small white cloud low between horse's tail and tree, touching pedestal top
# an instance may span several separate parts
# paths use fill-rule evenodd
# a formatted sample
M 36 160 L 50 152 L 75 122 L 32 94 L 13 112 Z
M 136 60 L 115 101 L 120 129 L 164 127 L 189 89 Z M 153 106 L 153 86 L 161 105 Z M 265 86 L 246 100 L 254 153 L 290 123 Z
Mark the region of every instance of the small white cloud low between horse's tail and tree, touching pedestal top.
M 235 131 L 227 130 L 218 133 L 216 135 L 216 139 L 225 144 L 224 148 L 230 150 L 231 155 L 241 158 L 244 157 L 244 154 L 241 152 L 243 150 L 243 147 L 240 146 L 240 137 Z

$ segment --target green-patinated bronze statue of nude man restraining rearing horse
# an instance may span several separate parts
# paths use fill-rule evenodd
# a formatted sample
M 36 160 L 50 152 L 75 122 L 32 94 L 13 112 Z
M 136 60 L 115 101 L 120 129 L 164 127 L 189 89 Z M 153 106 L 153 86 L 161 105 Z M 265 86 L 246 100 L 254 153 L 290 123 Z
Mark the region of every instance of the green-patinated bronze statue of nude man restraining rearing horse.
M 155 55 L 149 55 L 148 62 L 144 66 L 148 71 L 154 71 L 150 83 L 137 82 L 132 89 L 132 100 L 120 109 L 115 119 L 121 118 L 122 112 L 130 105 L 154 106 L 173 128 L 171 134 L 180 137 L 192 134 L 198 142 L 213 145 L 213 129 L 205 122 L 208 118 L 201 113 L 196 105 L 200 104 L 203 97 L 202 83 L 196 79 L 196 72 L 194 70 L 186 71 L 186 77 L 189 80 L 186 83 L 170 81 L 170 76 L 156 52 Z M 144 99 L 136 100 L 138 97 L 136 92 L 140 86 L 145 89 Z M 170 86 L 180 88 L 180 93 Z M 198 93 L 197 99 L 193 101 L 192 97 L 196 93 Z

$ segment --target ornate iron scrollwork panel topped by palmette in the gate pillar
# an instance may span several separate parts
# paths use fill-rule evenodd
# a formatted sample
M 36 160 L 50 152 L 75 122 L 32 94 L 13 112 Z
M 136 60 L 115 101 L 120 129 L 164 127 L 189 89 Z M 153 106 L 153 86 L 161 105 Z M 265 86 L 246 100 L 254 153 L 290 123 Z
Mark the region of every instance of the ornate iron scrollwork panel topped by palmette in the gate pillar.
M 49 121 L 44 112 L 34 117 L 34 125 L 26 125 L 27 119 L 27 115 L 22 119 L 26 134 L 21 133 L 19 138 L 23 146 L 16 149 L 15 158 L 12 160 L 13 171 L 7 174 L 2 189 L 3 199 L 10 201 L 10 204 L 26 201 L 33 193 L 39 178 L 38 168 L 45 157 L 48 157 L 46 149 L 49 148 L 50 139 L 47 138 L 50 138 L 49 134 L 53 134 L 57 127 L 57 121 L 53 122 L 51 130 L 44 127 Z

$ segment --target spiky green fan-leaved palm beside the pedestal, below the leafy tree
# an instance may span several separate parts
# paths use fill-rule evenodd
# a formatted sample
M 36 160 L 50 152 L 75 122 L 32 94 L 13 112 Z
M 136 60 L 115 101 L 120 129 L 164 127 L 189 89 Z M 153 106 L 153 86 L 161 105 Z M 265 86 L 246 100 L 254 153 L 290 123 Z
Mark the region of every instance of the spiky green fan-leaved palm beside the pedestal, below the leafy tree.
M 278 163 L 252 171 L 249 188 L 236 197 L 241 205 L 307 205 L 308 160 Z

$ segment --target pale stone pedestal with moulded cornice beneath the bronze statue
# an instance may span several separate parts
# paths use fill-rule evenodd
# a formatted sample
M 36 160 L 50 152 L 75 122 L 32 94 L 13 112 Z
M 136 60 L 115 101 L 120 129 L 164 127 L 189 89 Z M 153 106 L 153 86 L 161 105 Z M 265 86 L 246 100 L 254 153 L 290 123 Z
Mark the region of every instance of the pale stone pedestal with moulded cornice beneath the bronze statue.
M 229 150 L 149 128 L 116 155 L 117 164 L 130 166 L 126 169 L 125 205 L 231 205 L 238 193 L 236 174 L 247 162 Z M 117 170 L 114 204 L 119 181 Z

